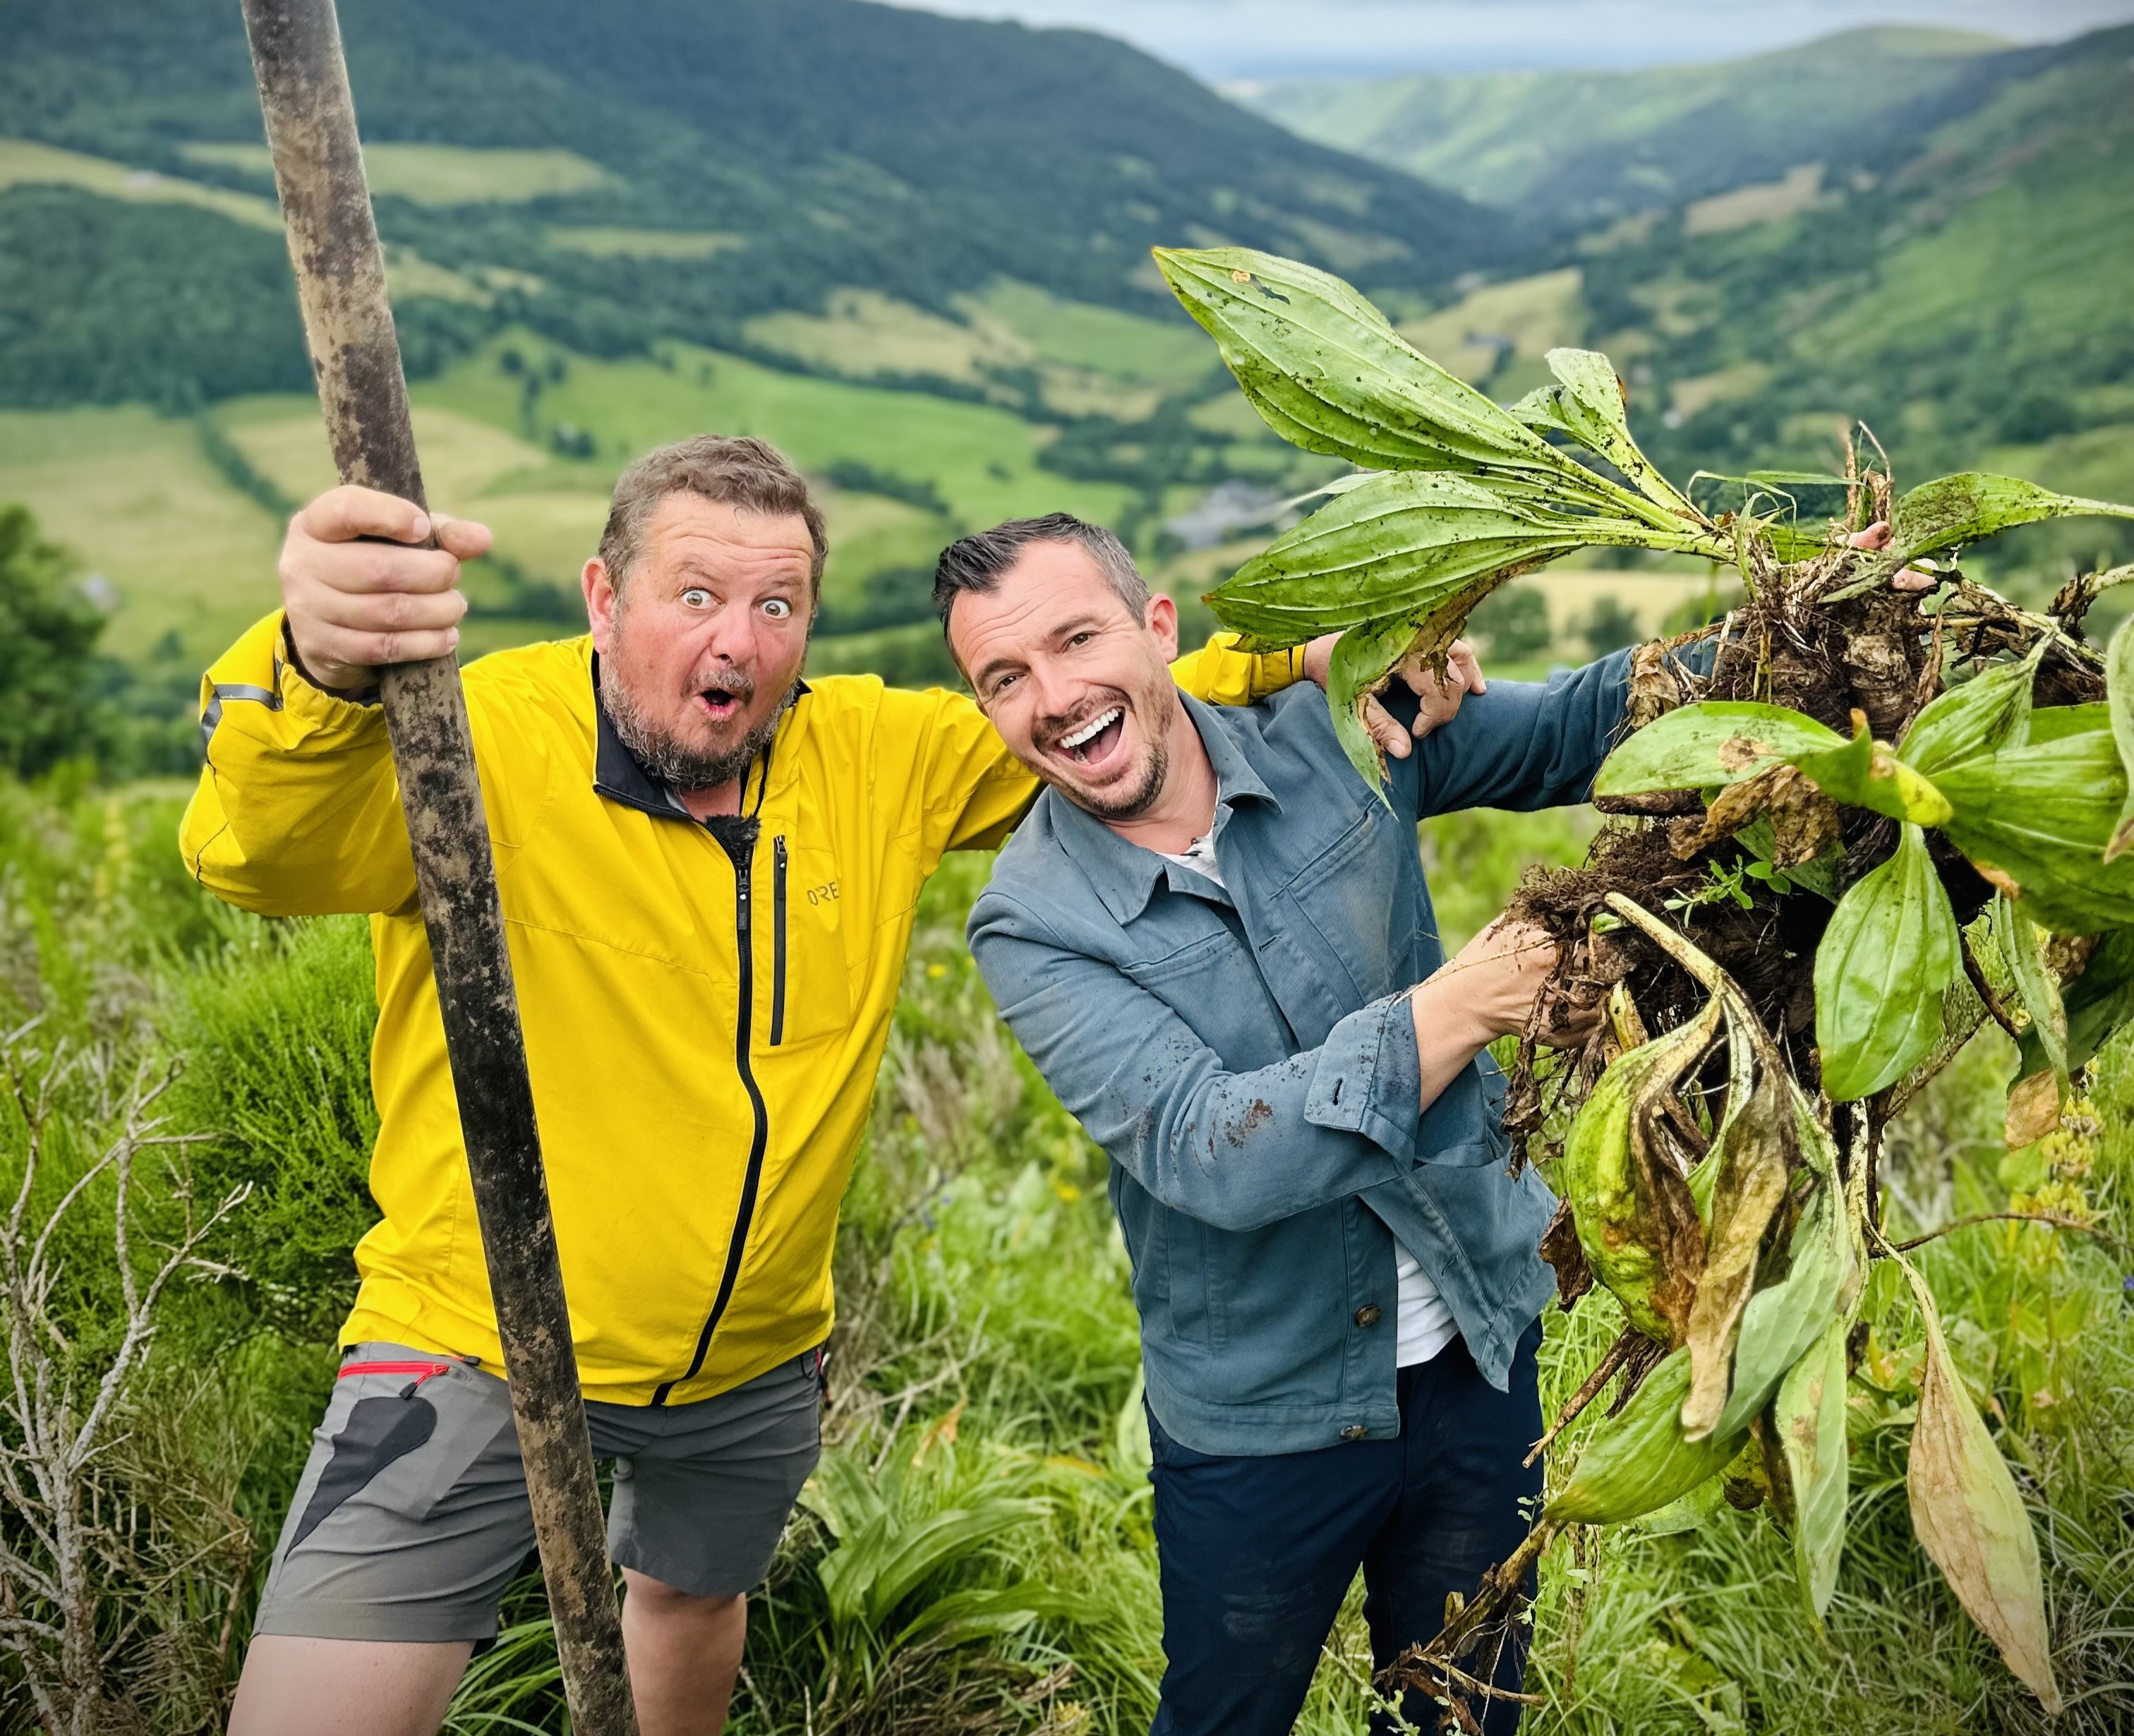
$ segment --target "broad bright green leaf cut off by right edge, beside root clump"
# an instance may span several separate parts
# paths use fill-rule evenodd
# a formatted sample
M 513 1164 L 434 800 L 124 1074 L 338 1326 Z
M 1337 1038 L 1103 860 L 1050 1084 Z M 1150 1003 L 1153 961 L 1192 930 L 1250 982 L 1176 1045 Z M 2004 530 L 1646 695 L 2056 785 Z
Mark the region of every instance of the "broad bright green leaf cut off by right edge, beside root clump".
M 2064 713 L 2081 713 L 2070 720 Z M 2134 927 L 2134 854 L 2104 861 L 2128 773 L 2102 705 L 2029 713 L 2029 739 L 1936 773 L 1948 839 L 2055 933 Z M 2091 728 L 2061 732 L 2070 722 Z

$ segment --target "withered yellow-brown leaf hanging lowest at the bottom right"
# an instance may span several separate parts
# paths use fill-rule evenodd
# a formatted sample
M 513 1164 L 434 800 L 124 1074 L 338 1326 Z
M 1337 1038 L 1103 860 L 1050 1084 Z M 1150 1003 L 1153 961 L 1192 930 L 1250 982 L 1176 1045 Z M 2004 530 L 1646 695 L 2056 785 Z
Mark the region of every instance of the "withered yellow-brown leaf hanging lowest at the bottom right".
M 1906 1465 L 1912 1529 L 1957 1601 L 2000 1646 L 2008 1668 L 2049 1713 L 2057 1713 L 2061 1702 L 2044 1619 L 2044 1574 L 2023 1490 L 2014 1486 L 2008 1463 L 1948 1358 L 1933 1292 L 1910 1260 L 1901 1253 L 1895 1258 L 1912 1283 L 1927 1330 L 1918 1420 L 1912 1424 Z

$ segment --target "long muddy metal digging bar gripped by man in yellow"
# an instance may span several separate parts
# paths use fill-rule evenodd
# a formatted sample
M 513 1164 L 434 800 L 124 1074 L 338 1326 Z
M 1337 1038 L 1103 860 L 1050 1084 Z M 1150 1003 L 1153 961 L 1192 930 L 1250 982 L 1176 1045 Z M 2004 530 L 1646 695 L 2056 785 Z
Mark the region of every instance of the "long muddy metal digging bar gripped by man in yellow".
M 333 0 L 243 0 L 243 13 L 333 465 L 425 506 Z M 572 1730 L 636 1736 L 459 662 L 395 664 L 380 696 Z

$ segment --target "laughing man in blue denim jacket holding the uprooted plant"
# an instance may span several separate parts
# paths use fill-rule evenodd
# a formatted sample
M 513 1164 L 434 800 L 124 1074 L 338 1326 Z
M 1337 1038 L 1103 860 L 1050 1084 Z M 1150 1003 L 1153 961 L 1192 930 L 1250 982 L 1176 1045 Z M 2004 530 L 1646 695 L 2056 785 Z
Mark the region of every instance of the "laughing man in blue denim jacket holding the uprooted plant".
M 1050 786 L 971 950 L 1112 1155 L 1154 1454 L 1154 1732 L 1274 1736 L 1359 1565 L 1385 1666 L 1517 1546 L 1541 1488 L 1522 1458 L 1554 1198 L 1509 1170 L 1485 1044 L 1526 1025 L 1554 948 L 1498 927 L 1447 965 L 1415 824 L 1583 799 L 1628 653 L 1547 685 L 1477 673 L 1381 801 L 1319 688 L 1178 698 L 1176 611 L 1108 532 L 1054 515 L 965 538 L 935 600 Z M 1517 1710 L 1490 1702 L 1487 1730 Z

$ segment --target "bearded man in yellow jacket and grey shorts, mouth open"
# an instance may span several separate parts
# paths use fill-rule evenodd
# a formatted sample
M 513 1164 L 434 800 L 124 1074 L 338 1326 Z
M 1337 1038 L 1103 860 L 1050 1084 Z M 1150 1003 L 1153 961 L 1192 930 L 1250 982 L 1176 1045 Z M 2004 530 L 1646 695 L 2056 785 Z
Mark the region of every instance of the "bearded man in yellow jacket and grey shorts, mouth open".
M 435 530 L 437 549 L 405 547 Z M 399 547 L 397 547 L 399 545 Z M 335 489 L 286 609 L 203 688 L 201 884 L 367 912 L 382 1221 L 275 1548 L 233 1732 L 431 1732 L 531 1546 L 414 867 L 373 685 L 457 645 L 489 532 Z M 817 1454 L 839 1198 L 913 908 L 1035 784 L 958 694 L 802 681 L 826 553 L 807 483 L 700 438 L 617 483 L 587 638 L 467 670 L 563 1281 L 647 1736 L 715 1732 Z M 1251 703 L 1325 647 L 1178 664 Z M 1321 677 L 1323 679 L 1323 677 Z M 1406 747 L 1406 739 L 1396 752 Z

